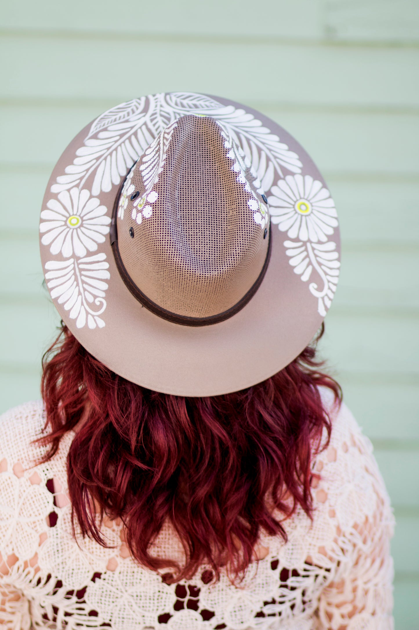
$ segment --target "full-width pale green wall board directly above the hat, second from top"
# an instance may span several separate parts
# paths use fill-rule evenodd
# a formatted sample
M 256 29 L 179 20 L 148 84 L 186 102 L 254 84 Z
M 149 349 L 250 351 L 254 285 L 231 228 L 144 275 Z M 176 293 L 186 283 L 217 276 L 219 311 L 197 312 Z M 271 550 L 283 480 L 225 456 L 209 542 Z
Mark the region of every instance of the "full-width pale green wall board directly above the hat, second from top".
M 53 54 L 52 54 L 53 51 Z M 199 91 L 242 103 L 417 108 L 419 50 L 358 49 L 291 43 L 193 44 L 23 33 L 3 35 L 4 98 L 133 98 L 159 91 Z M 133 60 L 139 74 L 133 73 Z M 385 80 L 383 76 L 385 72 Z M 391 130 L 391 129 L 390 129 Z

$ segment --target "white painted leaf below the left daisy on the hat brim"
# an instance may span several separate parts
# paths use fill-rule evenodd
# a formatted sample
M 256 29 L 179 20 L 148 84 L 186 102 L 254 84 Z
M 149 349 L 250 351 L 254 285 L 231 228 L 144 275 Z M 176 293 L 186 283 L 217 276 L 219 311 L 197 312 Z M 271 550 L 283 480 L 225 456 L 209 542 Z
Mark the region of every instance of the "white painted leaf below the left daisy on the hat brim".
M 103 328 L 105 323 L 99 317 L 106 309 L 107 282 L 111 277 L 107 271 L 109 263 L 106 254 L 96 254 L 75 260 L 50 260 L 45 263 L 45 279 L 52 299 L 58 297 L 58 304 L 63 304 L 70 311 L 70 319 L 76 319 L 77 328 L 87 326 L 93 329 Z M 99 307 L 94 311 L 92 304 Z

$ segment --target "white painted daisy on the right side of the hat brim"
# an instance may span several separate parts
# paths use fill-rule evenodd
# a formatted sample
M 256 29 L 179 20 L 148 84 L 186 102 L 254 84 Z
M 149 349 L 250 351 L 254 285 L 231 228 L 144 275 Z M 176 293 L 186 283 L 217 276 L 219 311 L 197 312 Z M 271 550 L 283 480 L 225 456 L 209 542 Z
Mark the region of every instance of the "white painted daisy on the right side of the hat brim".
M 289 238 L 325 243 L 327 235 L 334 233 L 338 226 L 335 204 L 321 181 L 310 175 L 287 175 L 271 192 L 271 221 Z

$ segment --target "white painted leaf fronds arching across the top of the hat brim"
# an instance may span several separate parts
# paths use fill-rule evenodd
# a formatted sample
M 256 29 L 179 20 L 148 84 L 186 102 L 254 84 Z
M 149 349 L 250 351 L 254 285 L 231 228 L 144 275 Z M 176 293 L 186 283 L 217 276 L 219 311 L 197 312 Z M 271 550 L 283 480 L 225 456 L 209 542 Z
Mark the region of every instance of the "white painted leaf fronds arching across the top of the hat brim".
M 51 192 L 59 193 L 76 185 L 82 188 L 92 175 L 92 195 L 99 195 L 102 190 L 109 192 L 126 177 L 156 135 L 173 120 L 190 113 L 212 116 L 229 127 L 265 190 L 271 187 L 275 173 L 283 176 L 282 168 L 301 173 L 298 155 L 253 114 L 221 105 L 202 94 L 160 93 L 121 103 L 99 116 L 84 146 L 77 149 L 73 163 L 65 168 L 65 174 L 57 177 Z

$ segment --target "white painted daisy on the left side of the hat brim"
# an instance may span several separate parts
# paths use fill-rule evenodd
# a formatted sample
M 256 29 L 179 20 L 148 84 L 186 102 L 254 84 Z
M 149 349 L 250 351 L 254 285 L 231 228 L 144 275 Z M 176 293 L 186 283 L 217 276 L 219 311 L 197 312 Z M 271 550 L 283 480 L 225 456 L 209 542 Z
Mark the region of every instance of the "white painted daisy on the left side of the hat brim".
M 58 201 L 50 199 L 46 204 L 48 210 L 41 212 L 41 219 L 45 219 L 40 224 L 40 232 L 45 232 L 41 243 L 51 244 L 52 254 L 85 256 L 87 250 L 97 250 L 97 243 L 104 243 L 111 219 L 106 216 L 106 206 L 89 197 L 89 190 L 72 188 L 60 192 Z

